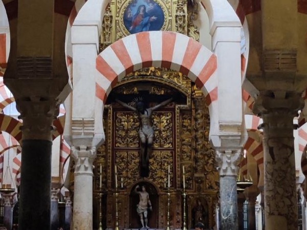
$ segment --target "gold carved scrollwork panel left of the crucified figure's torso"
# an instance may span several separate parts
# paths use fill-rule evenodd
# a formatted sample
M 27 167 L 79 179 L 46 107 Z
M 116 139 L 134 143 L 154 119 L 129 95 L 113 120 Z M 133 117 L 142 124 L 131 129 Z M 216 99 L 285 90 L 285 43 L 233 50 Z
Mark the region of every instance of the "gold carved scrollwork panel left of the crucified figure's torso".
M 139 118 L 132 112 L 115 112 L 115 147 L 138 147 Z

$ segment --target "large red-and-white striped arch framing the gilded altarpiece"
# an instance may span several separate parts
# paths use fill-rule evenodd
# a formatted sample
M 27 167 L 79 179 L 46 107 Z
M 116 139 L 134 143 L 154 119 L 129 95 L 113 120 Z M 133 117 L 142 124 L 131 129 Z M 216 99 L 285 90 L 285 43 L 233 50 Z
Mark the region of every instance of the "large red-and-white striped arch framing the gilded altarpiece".
M 102 121 L 106 98 L 117 82 L 135 70 L 151 66 L 180 71 L 195 82 L 209 107 L 210 134 L 213 130 L 217 133 L 216 56 L 197 41 L 175 32 L 151 31 L 129 35 L 97 56 L 96 105 L 102 110 L 96 110 L 95 117 Z

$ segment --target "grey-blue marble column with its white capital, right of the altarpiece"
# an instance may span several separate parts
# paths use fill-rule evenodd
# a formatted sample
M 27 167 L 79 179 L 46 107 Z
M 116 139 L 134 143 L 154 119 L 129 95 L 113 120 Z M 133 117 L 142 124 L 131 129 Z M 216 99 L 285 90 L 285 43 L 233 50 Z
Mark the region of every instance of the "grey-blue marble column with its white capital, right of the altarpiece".
M 241 150 L 216 151 L 217 170 L 220 172 L 221 229 L 238 229 L 236 178 Z

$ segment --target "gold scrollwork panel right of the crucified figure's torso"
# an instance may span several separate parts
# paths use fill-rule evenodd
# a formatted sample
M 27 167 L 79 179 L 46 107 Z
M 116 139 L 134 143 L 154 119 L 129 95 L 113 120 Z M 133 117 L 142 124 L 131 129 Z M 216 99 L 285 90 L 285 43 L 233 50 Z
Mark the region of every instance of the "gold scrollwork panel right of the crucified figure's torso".
M 152 114 L 152 123 L 155 130 L 155 148 L 173 147 L 173 114 L 171 112 L 156 112 Z

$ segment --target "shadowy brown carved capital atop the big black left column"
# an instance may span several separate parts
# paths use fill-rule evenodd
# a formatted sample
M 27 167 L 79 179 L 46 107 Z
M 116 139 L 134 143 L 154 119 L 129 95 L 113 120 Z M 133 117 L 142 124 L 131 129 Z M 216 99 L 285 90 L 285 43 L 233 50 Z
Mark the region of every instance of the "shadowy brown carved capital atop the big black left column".
M 29 96 L 16 99 L 17 110 L 23 119 L 23 139 L 43 139 L 52 141 L 53 121 L 59 113 L 55 98 Z

